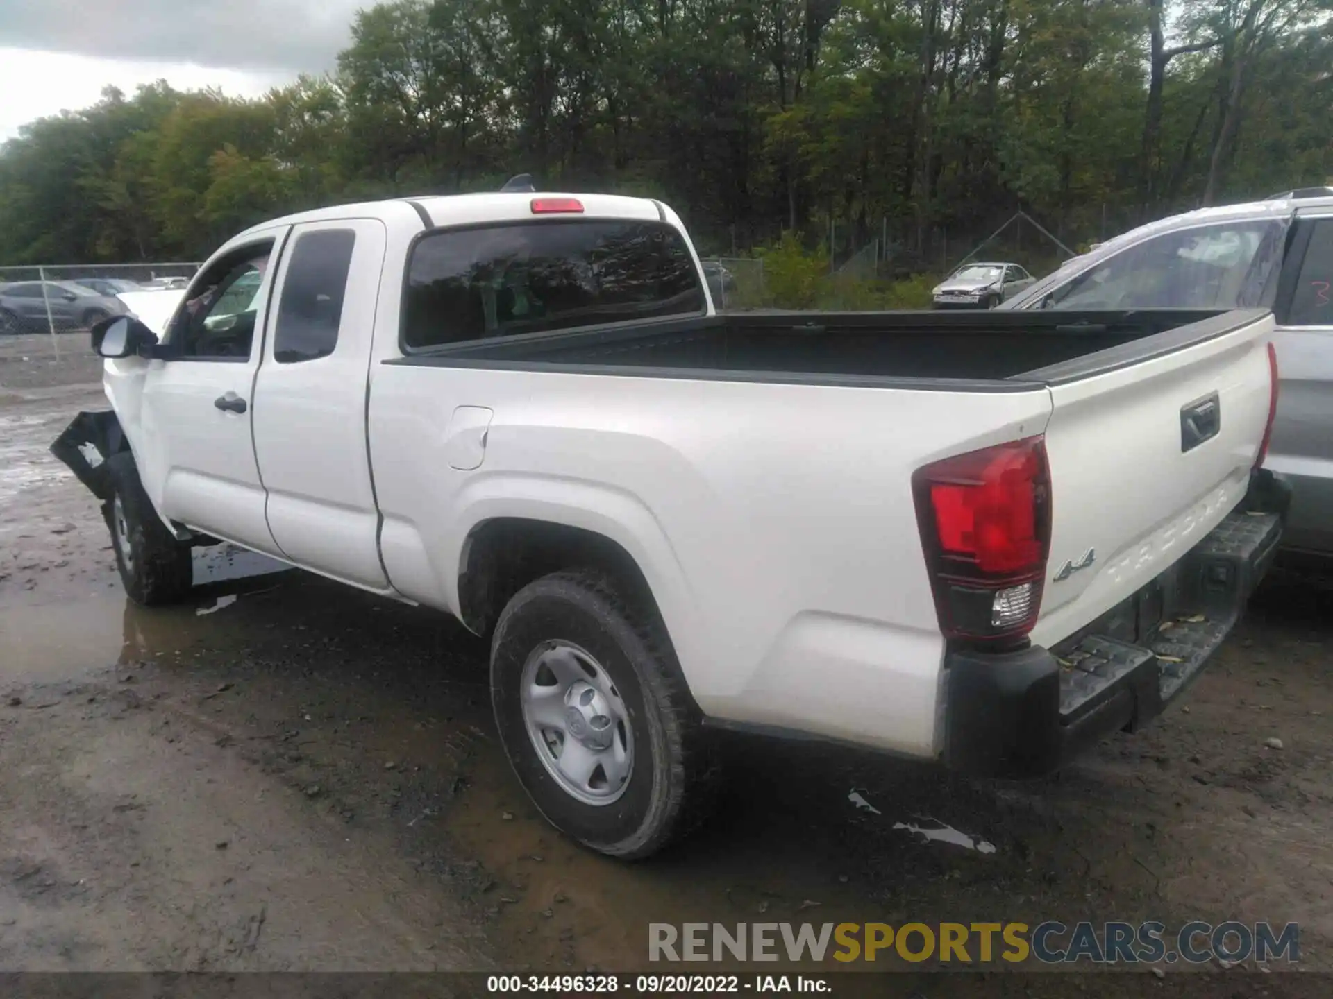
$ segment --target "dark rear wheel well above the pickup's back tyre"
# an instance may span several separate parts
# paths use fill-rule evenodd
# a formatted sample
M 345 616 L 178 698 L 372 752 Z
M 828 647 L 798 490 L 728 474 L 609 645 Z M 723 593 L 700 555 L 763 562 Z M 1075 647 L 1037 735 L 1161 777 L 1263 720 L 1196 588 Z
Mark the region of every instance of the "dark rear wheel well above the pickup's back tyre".
M 633 555 L 604 534 L 564 523 L 497 517 L 472 529 L 463 546 L 459 615 L 487 635 L 509 599 L 533 579 L 561 569 L 601 569 L 631 587 L 632 597 L 659 617 L 648 581 Z M 665 630 L 665 629 L 664 629 Z

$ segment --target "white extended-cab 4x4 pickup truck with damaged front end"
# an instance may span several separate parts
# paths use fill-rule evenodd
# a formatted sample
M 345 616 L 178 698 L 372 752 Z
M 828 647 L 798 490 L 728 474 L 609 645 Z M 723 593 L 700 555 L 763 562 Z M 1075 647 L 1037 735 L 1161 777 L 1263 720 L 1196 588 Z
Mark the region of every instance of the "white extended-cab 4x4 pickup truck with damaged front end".
M 52 450 L 139 602 L 224 539 L 489 635 L 519 779 L 633 858 L 712 726 L 1024 775 L 1160 713 L 1282 530 L 1272 330 L 718 316 L 657 201 L 392 200 L 236 236 L 160 338 L 100 324 L 113 413 Z

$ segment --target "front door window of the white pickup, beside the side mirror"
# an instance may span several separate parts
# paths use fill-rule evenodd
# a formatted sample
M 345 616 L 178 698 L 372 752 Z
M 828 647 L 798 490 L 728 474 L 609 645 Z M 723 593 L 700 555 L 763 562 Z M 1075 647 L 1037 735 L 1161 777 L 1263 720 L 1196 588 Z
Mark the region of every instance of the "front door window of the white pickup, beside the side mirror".
M 249 360 L 272 248 L 272 241 L 247 246 L 200 276 L 167 332 L 172 360 Z

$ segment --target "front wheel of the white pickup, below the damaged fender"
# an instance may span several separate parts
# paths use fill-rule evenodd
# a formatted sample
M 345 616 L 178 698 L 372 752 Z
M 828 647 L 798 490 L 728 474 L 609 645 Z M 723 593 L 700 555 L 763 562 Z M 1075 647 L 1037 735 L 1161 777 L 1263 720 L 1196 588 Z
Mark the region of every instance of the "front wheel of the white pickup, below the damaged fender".
M 125 593 L 145 607 L 175 603 L 193 583 L 191 550 L 172 537 L 139 481 L 128 452 L 107 460 L 113 494 L 103 506 Z M 128 549 L 128 550 L 127 550 Z

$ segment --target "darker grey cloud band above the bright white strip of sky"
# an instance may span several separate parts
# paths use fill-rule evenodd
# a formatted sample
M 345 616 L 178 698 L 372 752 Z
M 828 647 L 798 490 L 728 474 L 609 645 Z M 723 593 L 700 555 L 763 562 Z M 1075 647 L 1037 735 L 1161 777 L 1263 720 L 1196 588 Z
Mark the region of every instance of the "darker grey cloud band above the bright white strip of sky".
M 219 69 L 333 69 L 369 0 L 0 0 L 0 47 Z

